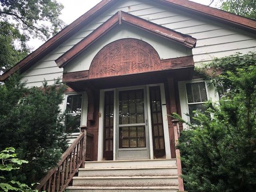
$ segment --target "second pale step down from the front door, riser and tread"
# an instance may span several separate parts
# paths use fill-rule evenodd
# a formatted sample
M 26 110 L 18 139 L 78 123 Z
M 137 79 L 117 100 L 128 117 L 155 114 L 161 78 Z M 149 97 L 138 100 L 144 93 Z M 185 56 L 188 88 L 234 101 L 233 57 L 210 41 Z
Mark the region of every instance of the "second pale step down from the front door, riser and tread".
M 80 168 L 78 176 L 168 176 L 177 175 L 176 166 L 131 166 Z

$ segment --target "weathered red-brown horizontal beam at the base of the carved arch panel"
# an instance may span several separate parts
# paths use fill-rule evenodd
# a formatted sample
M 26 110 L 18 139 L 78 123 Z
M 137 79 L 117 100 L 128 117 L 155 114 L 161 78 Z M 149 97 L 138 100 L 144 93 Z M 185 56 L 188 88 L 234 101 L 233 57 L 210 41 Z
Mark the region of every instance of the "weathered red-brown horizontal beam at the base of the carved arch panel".
M 194 68 L 193 56 L 186 56 L 186 57 L 161 60 L 161 70 L 159 71 L 190 68 L 190 67 Z M 153 71 L 148 71 L 148 72 L 153 72 Z M 90 78 L 88 74 L 89 74 L 89 70 L 64 73 L 62 82 L 69 83 L 69 82 L 85 81 L 89 79 L 100 79 L 100 78 Z

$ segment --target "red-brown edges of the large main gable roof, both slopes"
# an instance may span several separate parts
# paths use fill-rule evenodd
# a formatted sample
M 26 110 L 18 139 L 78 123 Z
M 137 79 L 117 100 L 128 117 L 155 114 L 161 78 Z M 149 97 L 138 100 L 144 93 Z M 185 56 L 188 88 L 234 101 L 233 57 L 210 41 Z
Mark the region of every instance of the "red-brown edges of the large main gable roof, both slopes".
M 14 67 L 6 71 L 2 76 L 0 76 L 0 81 L 6 80 L 11 74 L 20 70 L 24 72 L 32 64 L 36 63 L 42 57 L 46 56 L 50 51 L 60 45 L 64 40 L 72 36 L 76 31 L 80 30 L 83 26 L 88 24 L 91 20 L 99 16 L 101 13 L 106 11 L 110 6 L 112 6 L 118 0 L 102 0 L 88 12 L 80 16 L 70 25 L 66 26 L 58 34 L 46 41 L 42 46 L 36 49 L 34 52 L 29 54 L 26 58 L 18 62 Z M 218 10 L 209 6 L 198 4 L 196 2 L 191 2 L 189 0 L 154 0 L 161 2 L 168 6 L 173 6 L 205 18 L 215 19 L 219 22 L 230 24 L 236 26 L 237 28 L 242 28 L 249 32 L 256 31 L 256 20 L 238 16 L 223 10 Z

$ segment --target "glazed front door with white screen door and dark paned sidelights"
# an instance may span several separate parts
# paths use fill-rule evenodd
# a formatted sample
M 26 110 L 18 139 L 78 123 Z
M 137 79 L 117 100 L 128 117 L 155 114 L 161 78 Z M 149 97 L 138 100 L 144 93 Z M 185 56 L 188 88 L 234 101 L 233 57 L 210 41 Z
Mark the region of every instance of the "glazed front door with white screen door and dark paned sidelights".
M 103 117 L 99 122 L 103 129 L 99 136 L 103 156 L 99 160 L 170 158 L 170 150 L 166 153 L 170 142 L 164 142 L 169 140 L 166 104 L 159 85 L 102 93 Z

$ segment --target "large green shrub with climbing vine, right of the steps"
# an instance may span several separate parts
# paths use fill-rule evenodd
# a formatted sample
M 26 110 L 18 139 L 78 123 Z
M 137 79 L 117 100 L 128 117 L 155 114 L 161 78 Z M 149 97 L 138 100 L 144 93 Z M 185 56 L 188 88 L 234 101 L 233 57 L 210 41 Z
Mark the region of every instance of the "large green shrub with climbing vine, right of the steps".
M 184 184 L 191 192 L 255 191 L 255 53 L 237 56 L 215 61 L 223 73 L 208 79 L 221 79 L 230 90 L 219 104 L 209 103 L 206 112 L 196 112 L 199 125 L 188 124 L 190 130 L 180 136 Z

